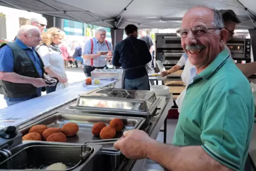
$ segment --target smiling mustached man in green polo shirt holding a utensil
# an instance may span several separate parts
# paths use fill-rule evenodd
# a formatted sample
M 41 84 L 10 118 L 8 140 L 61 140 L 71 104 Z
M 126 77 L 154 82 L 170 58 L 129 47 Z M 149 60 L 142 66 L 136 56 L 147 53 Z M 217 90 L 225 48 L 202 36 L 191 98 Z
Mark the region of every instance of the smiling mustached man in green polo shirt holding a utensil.
M 254 100 L 248 80 L 224 48 L 221 14 L 193 7 L 183 17 L 182 47 L 195 66 L 173 144 L 131 130 L 114 144 L 132 159 L 149 158 L 168 170 L 244 170 L 252 136 Z

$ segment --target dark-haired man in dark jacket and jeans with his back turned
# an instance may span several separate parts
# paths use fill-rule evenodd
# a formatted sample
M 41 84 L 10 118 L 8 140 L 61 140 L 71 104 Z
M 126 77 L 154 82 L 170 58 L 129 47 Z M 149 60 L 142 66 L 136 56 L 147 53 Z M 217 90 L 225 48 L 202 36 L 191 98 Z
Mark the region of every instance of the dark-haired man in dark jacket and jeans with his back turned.
M 138 28 L 129 24 L 125 27 L 126 39 L 118 42 L 114 49 L 113 65 L 122 66 L 123 88 L 149 90 L 146 64 L 152 59 L 146 42 L 137 39 Z

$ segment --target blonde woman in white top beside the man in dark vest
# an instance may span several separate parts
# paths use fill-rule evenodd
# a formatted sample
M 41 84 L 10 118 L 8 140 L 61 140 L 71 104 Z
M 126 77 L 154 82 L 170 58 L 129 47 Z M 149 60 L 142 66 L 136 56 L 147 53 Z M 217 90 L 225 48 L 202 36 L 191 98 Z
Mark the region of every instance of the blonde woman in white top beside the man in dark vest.
M 58 28 L 50 28 L 42 33 L 42 43 L 38 48 L 38 54 L 41 56 L 45 65 L 45 71 L 52 78 L 57 79 L 58 83 L 65 85 L 67 77 L 64 69 L 64 60 L 59 44 L 64 38 L 65 33 Z M 46 93 L 56 91 L 56 86 L 46 87 Z

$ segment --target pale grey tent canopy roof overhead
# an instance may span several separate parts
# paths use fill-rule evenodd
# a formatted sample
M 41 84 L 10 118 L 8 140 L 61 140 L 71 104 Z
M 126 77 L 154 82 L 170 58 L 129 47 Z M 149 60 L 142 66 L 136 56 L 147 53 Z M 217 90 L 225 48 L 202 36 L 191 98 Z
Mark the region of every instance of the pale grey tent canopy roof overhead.
M 179 28 L 186 11 L 201 5 L 233 10 L 242 21 L 236 29 L 256 27 L 255 0 L 0 0 L 0 5 L 101 27 L 135 24 L 141 29 Z

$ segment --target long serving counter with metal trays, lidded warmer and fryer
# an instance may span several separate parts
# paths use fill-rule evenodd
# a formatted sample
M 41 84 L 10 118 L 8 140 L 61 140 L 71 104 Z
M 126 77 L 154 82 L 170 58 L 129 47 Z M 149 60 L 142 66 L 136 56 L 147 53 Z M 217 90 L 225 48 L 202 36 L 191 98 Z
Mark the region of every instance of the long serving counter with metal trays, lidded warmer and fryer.
M 101 83 L 99 87 L 79 84 L 1 109 L 0 169 L 45 169 L 63 163 L 67 170 L 142 170 L 146 159 L 127 159 L 113 143 L 132 129 L 156 139 L 174 105 L 172 95 L 156 97 L 150 91 L 118 89 L 120 81 Z M 123 129 L 112 139 L 92 134 L 96 123 L 108 125 L 114 118 L 122 120 Z M 39 141 L 22 141 L 33 126 L 63 130 L 69 123 L 79 130 L 72 136 L 56 132 L 66 135 L 63 142 L 48 141 L 51 135 L 45 138 L 46 130 Z

